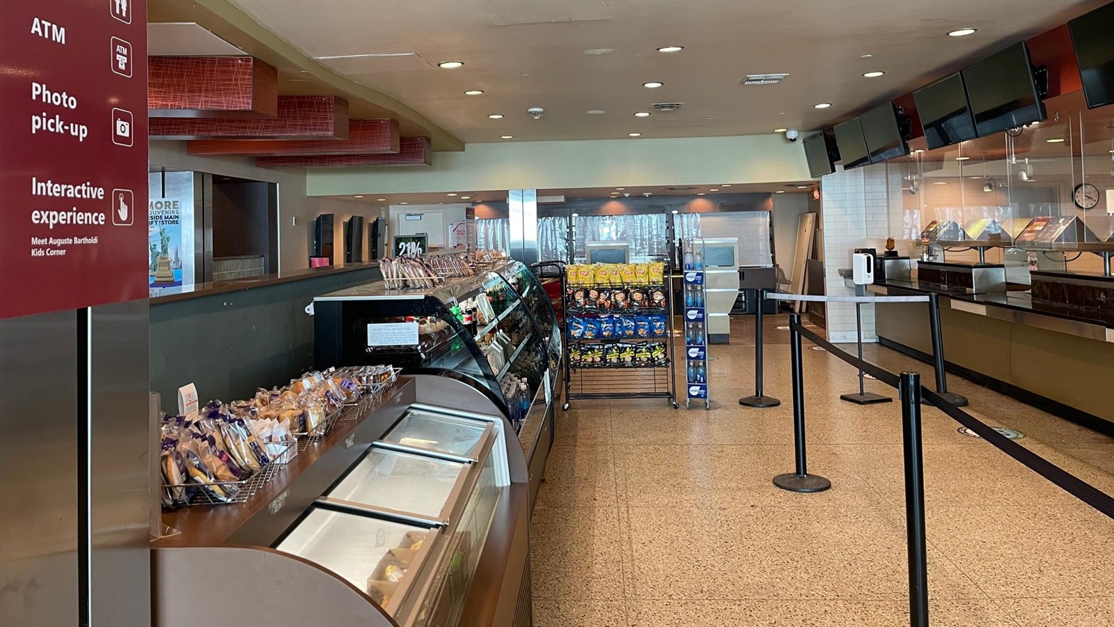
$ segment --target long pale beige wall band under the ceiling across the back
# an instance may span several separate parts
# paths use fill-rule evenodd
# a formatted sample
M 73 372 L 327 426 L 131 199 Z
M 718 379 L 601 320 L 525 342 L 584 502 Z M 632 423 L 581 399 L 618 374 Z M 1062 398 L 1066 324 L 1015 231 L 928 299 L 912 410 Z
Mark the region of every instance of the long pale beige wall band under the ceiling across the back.
M 313 168 L 312 195 L 563 190 L 809 181 L 804 148 L 782 135 L 468 144 L 429 167 Z

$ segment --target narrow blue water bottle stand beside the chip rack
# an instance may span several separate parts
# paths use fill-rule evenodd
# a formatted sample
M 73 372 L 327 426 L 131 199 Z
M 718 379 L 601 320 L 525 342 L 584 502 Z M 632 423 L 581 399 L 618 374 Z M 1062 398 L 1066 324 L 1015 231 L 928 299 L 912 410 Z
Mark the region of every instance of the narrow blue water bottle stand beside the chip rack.
M 685 408 L 693 401 L 704 402 L 704 408 L 712 408 L 709 398 L 707 359 L 707 287 L 704 281 L 704 240 L 685 240 L 682 258 L 682 286 L 684 298 L 685 332 Z

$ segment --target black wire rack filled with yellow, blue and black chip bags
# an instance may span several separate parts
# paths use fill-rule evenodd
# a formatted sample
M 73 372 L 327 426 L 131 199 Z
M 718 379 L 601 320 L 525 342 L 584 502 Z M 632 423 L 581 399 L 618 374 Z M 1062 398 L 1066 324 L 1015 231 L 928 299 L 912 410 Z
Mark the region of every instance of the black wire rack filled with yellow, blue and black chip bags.
M 658 262 L 661 263 L 661 262 Z M 596 264 L 608 269 L 639 264 Z M 643 264 L 647 266 L 647 264 Z M 631 280 L 620 270 L 605 279 L 570 281 L 584 266 L 561 276 L 565 311 L 565 404 L 574 399 L 665 398 L 677 408 L 671 297 L 673 274 Z M 584 332 L 584 328 L 592 329 Z M 648 358 L 647 358 L 648 356 Z

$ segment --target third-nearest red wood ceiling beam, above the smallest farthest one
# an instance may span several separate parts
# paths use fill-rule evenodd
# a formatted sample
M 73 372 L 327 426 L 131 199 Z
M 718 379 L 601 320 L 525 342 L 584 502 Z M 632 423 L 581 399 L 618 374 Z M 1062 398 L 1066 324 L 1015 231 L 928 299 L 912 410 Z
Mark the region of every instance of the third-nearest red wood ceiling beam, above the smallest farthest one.
M 394 154 L 399 152 L 399 123 L 393 119 L 353 119 L 344 141 L 211 141 L 190 142 L 192 155 L 299 156 L 336 154 Z

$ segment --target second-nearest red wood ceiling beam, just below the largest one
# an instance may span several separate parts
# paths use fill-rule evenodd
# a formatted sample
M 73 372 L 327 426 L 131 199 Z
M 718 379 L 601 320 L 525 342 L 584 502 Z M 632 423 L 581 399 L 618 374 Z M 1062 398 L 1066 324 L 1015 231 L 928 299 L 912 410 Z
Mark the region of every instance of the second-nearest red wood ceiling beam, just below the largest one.
M 278 96 L 278 116 L 274 118 L 154 117 L 150 119 L 150 138 L 346 139 L 348 115 L 348 100 L 335 96 Z M 260 144 L 261 142 L 207 143 Z M 193 146 L 194 143 L 190 144 L 190 147 Z

